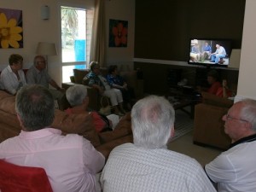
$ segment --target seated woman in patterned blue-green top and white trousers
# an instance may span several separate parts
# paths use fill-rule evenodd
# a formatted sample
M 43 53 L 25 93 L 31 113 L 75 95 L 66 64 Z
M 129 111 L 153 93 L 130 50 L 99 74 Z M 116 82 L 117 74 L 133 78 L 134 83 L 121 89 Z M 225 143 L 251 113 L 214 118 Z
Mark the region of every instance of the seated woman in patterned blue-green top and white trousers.
M 107 79 L 102 76 L 100 66 L 96 61 L 90 62 L 90 73 L 84 79 L 89 79 L 89 85 L 96 88 L 102 96 L 110 98 L 115 114 L 125 115 L 121 91 L 110 87 Z

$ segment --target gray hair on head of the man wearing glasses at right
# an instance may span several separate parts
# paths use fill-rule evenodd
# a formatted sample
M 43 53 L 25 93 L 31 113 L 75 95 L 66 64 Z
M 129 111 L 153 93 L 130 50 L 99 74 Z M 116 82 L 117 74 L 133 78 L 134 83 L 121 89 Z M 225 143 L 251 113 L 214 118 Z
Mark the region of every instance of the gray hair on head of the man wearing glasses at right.
M 252 124 L 253 131 L 256 131 L 256 101 L 245 99 L 241 101 L 242 108 L 240 112 L 241 119 L 245 119 Z

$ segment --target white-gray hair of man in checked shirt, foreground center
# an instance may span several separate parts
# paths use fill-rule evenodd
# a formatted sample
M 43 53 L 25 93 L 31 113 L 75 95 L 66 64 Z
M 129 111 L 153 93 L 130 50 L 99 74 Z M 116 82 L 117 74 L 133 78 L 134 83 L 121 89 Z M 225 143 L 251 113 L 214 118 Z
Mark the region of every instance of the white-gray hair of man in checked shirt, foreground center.
M 138 147 L 161 148 L 171 137 L 175 112 L 163 96 L 147 96 L 131 110 L 133 142 Z

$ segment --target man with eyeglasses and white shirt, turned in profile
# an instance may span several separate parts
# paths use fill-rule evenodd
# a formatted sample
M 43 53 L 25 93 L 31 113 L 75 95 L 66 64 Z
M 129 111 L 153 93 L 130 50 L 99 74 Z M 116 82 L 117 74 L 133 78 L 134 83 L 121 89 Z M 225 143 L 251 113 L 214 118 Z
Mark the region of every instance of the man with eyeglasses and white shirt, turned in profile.
M 223 120 L 224 131 L 232 144 L 205 166 L 207 175 L 218 183 L 218 192 L 255 192 L 256 101 L 236 102 Z

